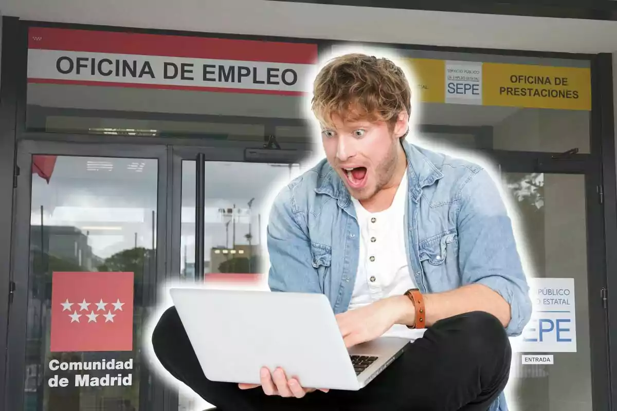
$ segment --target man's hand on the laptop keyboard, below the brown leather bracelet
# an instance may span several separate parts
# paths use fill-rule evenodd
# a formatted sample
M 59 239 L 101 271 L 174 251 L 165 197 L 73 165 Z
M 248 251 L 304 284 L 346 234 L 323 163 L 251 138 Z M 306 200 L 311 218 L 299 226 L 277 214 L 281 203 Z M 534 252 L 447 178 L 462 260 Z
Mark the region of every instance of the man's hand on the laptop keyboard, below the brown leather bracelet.
M 409 299 L 384 298 L 368 306 L 336 315 L 336 321 L 347 348 L 375 340 L 409 311 Z M 412 306 L 413 307 L 413 306 Z

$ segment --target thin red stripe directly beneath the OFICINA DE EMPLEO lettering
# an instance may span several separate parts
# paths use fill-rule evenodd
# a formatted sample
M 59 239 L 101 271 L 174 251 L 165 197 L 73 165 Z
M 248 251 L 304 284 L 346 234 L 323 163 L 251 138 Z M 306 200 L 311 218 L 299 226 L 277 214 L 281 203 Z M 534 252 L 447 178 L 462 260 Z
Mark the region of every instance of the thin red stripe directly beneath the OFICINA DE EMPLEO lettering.
M 199 87 L 199 86 L 176 86 L 171 84 L 139 84 L 117 83 L 114 81 L 83 81 L 83 80 L 60 80 L 50 78 L 28 78 L 28 83 L 35 84 L 77 84 L 80 86 L 103 86 L 103 87 L 128 87 L 135 89 L 161 89 L 161 90 L 189 90 L 189 91 L 215 91 L 227 93 L 249 94 L 278 94 L 281 96 L 303 96 L 302 91 L 286 90 L 262 90 L 262 89 L 234 89 L 230 87 Z

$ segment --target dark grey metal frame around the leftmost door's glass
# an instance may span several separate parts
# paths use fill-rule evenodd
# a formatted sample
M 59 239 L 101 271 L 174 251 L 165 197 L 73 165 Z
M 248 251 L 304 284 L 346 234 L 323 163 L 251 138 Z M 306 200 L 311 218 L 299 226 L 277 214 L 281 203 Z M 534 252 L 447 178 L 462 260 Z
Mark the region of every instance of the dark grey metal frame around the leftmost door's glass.
M 14 295 L 9 306 L 9 328 L 7 338 L 7 404 L 11 410 L 23 410 L 25 399 L 25 349 L 27 340 L 27 307 L 30 279 L 30 213 L 31 213 L 31 179 L 32 155 L 61 155 L 78 157 L 112 157 L 112 158 L 154 158 L 158 160 L 157 183 L 157 248 L 156 270 L 154 278 L 148 279 L 150 287 L 144 293 L 144 305 L 155 306 L 157 284 L 164 282 L 167 276 L 167 174 L 168 157 L 165 145 L 125 145 L 125 144 L 81 144 L 73 142 L 48 142 L 38 140 L 20 140 L 17 144 L 17 176 L 15 189 L 15 216 L 12 230 L 12 261 L 10 280 L 14 283 Z M 145 321 L 145 319 L 144 319 Z M 133 344 L 141 343 L 141 341 Z M 145 359 L 145 357 L 144 357 Z M 147 361 L 143 360 L 147 371 Z M 43 364 L 47 367 L 47 364 Z M 148 375 L 149 376 L 149 375 Z M 143 375 L 139 376 L 143 378 Z M 139 401 L 152 401 L 153 410 L 162 409 L 162 391 L 157 378 L 151 392 L 146 392 L 140 385 Z M 43 381 L 43 384 L 46 383 Z M 159 405 L 160 404 L 160 405 Z

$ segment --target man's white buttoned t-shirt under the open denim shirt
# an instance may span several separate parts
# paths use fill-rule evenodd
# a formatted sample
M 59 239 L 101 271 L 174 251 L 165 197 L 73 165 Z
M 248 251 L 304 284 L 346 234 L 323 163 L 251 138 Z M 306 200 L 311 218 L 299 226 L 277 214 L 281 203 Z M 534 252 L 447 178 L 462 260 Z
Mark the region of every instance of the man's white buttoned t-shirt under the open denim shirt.
M 408 181 L 404 174 L 392 205 L 378 213 L 367 211 L 352 197 L 360 225 L 360 256 L 349 309 L 356 309 L 389 296 L 403 295 L 418 288 L 409 273 L 404 227 Z M 411 301 L 410 301 L 411 304 Z M 395 324 L 384 336 L 400 336 L 415 340 L 424 334 Z

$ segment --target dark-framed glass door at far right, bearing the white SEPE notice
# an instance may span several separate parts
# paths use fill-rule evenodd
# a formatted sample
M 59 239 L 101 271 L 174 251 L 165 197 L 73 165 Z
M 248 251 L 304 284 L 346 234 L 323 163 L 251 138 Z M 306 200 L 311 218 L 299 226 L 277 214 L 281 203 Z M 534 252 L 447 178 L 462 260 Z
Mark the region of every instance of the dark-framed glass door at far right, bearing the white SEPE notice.
M 531 322 L 513 339 L 508 405 L 514 411 L 606 410 L 606 278 L 597 165 L 589 155 L 494 152 L 494 158 L 534 303 Z M 527 362 L 524 356 L 552 363 Z

